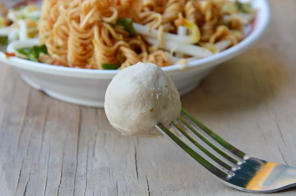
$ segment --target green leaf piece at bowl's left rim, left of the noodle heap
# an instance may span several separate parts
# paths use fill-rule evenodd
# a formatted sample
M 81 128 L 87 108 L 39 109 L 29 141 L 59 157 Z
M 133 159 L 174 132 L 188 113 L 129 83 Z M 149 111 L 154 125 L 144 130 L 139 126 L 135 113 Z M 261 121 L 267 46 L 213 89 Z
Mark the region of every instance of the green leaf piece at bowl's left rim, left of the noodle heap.
M 47 48 L 45 45 L 21 48 L 21 49 L 17 49 L 17 51 L 27 56 L 30 61 L 35 61 L 35 62 L 39 62 L 40 53 L 48 54 Z

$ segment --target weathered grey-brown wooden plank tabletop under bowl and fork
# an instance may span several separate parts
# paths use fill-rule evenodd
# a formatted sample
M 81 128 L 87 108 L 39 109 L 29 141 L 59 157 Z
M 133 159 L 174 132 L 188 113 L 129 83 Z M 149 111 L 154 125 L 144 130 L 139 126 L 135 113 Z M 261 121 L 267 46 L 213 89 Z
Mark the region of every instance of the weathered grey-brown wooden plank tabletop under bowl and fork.
M 296 166 L 296 1 L 269 2 L 272 19 L 259 42 L 182 103 L 241 150 Z M 217 181 L 167 138 L 123 136 L 103 109 L 49 98 L 1 64 L 0 195 L 248 194 Z

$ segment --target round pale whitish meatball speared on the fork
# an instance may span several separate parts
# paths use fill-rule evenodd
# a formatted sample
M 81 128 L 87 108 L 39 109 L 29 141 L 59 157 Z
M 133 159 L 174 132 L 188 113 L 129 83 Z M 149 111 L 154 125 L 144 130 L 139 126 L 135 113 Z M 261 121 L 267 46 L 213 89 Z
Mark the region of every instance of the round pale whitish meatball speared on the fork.
M 114 76 L 105 95 L 110 124 L 126 135 L 157 137 L 154 126 L 168 127 L 181 112 L 180 94 L 155 64 L 137 63 Z

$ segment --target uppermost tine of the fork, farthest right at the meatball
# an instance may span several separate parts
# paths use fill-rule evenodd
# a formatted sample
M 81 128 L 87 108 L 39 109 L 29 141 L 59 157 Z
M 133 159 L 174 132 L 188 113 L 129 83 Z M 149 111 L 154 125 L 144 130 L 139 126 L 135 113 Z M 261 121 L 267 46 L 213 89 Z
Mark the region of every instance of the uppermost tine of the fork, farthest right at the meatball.
M 246 157 L 250 157 L 249 155 L 245 154 L 244 152 L 238 150 L 231 144 L 229 144 L 227 141 L 222 139 L 219 135 L 211 131 L 209 128 L 207 128 L 204 124 L 196 120 L 192 115 L 190 115 L 185 109 L 181 109 L 181 115 L 188 120 L 195 128 L 197 128 L 199 131 L 203 132 L 205 136 L 208 136 L 208 139 L 211 140 L 213 143 L 216 143 L 216 145 L 224 151 L 224 153 L 228 154 L 229 156 L 233 157 L 234 159 L 244 163 L 244 159 Z M 230 152 L 229 153 L 227 153 Z

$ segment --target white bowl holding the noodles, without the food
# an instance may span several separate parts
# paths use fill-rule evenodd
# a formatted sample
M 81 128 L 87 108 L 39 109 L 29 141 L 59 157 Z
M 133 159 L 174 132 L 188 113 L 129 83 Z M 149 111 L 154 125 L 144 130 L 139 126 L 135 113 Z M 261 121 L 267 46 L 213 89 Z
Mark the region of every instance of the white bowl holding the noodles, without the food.
M 259 10 L 253 30 L 239 44 L 213 56 L 191 61 L 185 65 L 185 69 L 184 65 L 163 67 L 181 95 L 195 89 L 215 66 L 241 54 L 258 40 L 268 25 L 270 12 L 267 0 L 253 0 L 253 3 Z M 37 39 L 18 40 L 9 44 L 7 51 L 12 52 L 13 48 L 36 44 L 38 44 Z M 106 89 L 113 76 L 118 73 L 118 70 L 90 70 L 46 65 L 17 57 L 6 59 L 3 53 L 0 53 L 0 61 L 11 65 L 26 83 L 50 97 L 92 107 L 104 107 Z

